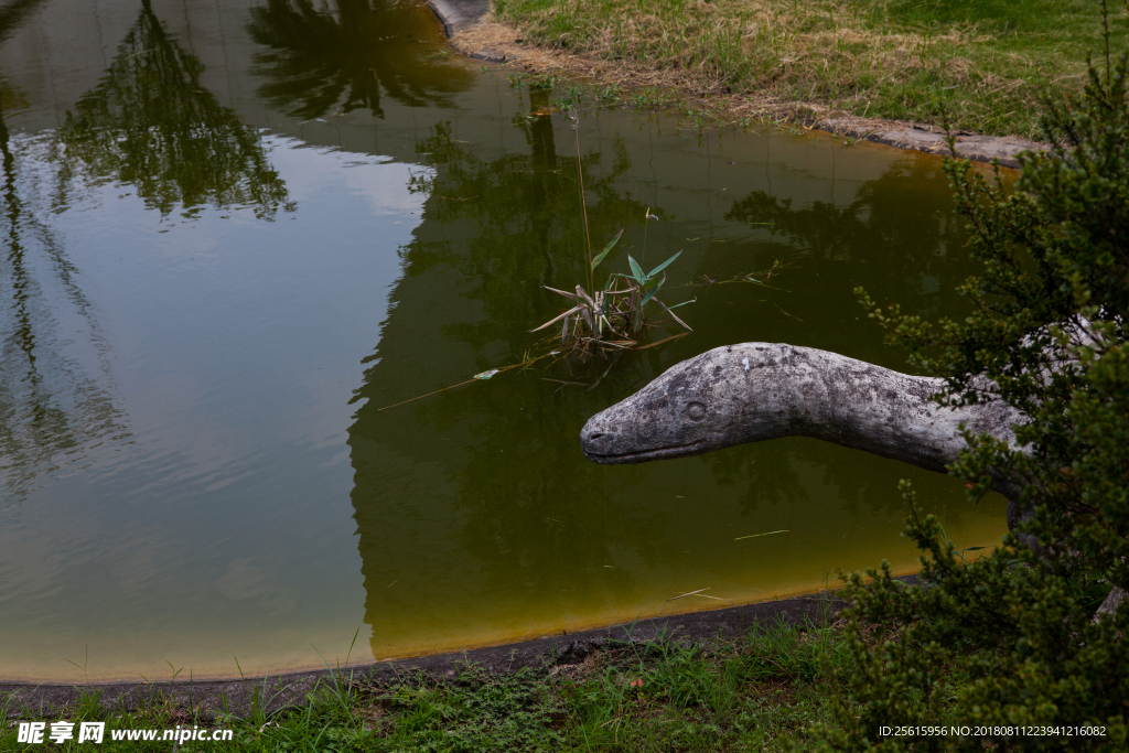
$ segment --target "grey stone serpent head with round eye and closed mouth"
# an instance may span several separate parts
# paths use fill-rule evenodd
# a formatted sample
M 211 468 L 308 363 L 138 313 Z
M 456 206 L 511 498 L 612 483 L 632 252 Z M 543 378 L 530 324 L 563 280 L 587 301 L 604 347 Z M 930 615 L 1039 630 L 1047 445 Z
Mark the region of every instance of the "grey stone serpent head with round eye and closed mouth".
M 588 419 L 580 431 L 585 457 L 604 464 L 646 463 L 779 436 L 751 410 L 752 383 L 763 384 L 763 367 L 779 365 L 779 348 L 727 345 L 676 364 Z

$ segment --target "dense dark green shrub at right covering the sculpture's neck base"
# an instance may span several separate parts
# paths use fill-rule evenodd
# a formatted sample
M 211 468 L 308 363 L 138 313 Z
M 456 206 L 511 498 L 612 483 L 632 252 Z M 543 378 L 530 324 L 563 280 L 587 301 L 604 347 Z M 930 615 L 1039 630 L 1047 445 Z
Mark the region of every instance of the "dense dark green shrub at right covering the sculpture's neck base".
M 1082 97 L 1045 104 L 1054 147 L 1022 158 L 1014 193 L 998 175 L 947 163 L 984 264 L 962 287 L 968 318 L 883 313 L 859 291 L 911 364 L 946 378 L 938 400 L 1001 400 L 1029 419 L 1014 446 L 966 434 L 952 469 L 972 494 L 1009 482 L 1024 519 L 1001 548 L 965 561 L 903 487 L 930 585 L 903 587 L 885 563 L 873 580 L 849 578 L 855 663 L 824 748 L 1129 750 L 1129 603 L 1094 619 L 1111 588 L 1129 588 L 1127 71 L 1129 53 L 1111 62 L 1106 52 Z M 929 725 L 973 734 L 882 729 Z

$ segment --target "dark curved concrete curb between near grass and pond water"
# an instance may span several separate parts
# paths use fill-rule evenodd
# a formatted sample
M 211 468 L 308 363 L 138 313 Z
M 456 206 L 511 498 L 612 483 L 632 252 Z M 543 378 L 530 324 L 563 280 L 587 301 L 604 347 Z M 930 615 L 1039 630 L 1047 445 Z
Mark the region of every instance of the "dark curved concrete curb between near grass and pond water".
M 899 578 L 917 584 L 917 576 Z M 419 672 L 438 680 L 453 680 L 460 669 L 474 665 L 491 674 L 524 667 L 550 669 L 553 666 L 579 664 L 593 651 L 618 642 L 645 642 L 674 639 L 682 642 L 707 642 L 717 638 L 735 638 L 756 625 L 778 622 L 796 624 L 805 621 L 822 623 L 847 603 L 834 592 L 798 596 L 776 602 L 761 602 L 714 612 L 695 612 L 675 616 L 640 620 L 578 633 L 549 636 L 535 640 L 443 654 L 418 659 L 379 662 L 345 667 L 339 673 L 329 669 L 295 672 L 262 677 L 152 683 L 89 683 L 86 685 L 34 684 L 0 681 L 0 704 L 7 702 L 9 718 L 24 716 L 59 716 L 84 695 L 97 693 L 107 708 L 138 709 L 155 700 L 164 701 L 212 718 L 219 712 L 245 715 L 254 704 L 266 713 L 305 702 L 320 686 L 341 680 L 365 680 L 380 683 L 410 677 Z

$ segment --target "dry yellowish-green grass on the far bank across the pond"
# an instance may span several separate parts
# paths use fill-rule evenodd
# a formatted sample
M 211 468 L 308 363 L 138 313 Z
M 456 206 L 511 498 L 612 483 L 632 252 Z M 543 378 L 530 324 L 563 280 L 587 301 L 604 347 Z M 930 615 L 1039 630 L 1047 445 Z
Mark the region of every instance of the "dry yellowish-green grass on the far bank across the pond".
M 598 59 L 605 79 L 1038 138 L 1043 96 L 1085 82 L 1104 55 L 1097 0 L 493 0 L 525 44 Z M 1111 3 L 1109 44 L 1129 43 Z M 616 73 L 616 67 L 619 73 Z

